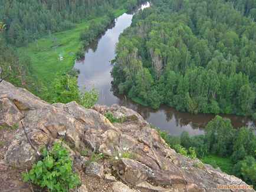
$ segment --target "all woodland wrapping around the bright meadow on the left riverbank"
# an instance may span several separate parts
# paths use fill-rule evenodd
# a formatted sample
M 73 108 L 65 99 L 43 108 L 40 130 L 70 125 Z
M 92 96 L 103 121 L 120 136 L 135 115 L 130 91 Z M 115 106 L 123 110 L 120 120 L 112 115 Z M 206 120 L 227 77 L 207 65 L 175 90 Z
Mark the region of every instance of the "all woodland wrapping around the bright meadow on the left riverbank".
M 34 39 L 51 35 L 75 27 L 77 23 L 92 21 L 89 28 L 81 34 L 83 46 L 92 41 L 96 35 L 103 32 L 114 19 L 114 9 L 131 9 L 141 0 L 108 0 L 108 1 L 37 1 L 37 0 L 3 0 L 0 1 L 0 21 L 4 24 L 0 32 L 0 77 L 18 87 L 25 87 L 40 97 L 44 84 L 39 82 L 31 65 L 31 58 L 25 54 L 17 54 L 17 47 L 26 46 Z M 99 16 L 104 17 L 100 24 L 93 21 Z M 2 22 L 4 21 L 4 22 Z M 100 28 L 100 29 L 99 29 Z M 89 36 L 88 36 L 89 35 Z M 84 55 L 84 49 L 77 56 Z M 42 61 L 43 62 L 43 61 Z M 56 80 L 58 82 L 58 80 Z M 54 82 L 55 84 L 56 82 Z M 52 91 L 54 85 L 47 85 Z M 47 97 L 43 98 L 47 100 Z M 48 101 L 52 101 L 51 100 Z

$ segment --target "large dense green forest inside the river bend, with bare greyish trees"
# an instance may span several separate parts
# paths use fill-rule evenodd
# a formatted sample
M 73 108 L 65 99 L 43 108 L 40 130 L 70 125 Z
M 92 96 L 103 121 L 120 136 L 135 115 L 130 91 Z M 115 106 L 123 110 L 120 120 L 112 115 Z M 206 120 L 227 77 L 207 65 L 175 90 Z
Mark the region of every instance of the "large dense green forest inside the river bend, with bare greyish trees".
M 114 84 L 152 108 L 256 118 L 255 8 L 255 1 L 154 1 L 120 36 Z

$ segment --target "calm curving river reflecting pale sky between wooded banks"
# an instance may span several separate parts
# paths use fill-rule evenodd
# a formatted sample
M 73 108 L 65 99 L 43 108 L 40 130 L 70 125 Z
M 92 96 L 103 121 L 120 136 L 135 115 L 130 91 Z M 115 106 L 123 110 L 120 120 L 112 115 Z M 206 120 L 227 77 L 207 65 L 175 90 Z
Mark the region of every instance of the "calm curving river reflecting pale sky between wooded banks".
M 104 34 L 99 35 L 95 41 L 91 42 L 85 51 L 83 61 L 75 61 L 74 68 L 79 69 L 78 87 L 81 91 L 96 88 L 99 91 L 98 104 L 112 105 L 119 104 L 132 108 L 139 112 L 143 118 L 156 127 L 168 131 L 172 135 L 180 135 L 182 131 L 188 131 L 190 135 L 204 134 L 205 125 L 215 117 L 213 114 L 189 114 L 180 112 L 167 105 L 162 105 L 159 109 L 153 110 L 136 104 L 130 98 L 120 95 L 117 88 L 111 84 L 110 76 L 111 64 L 114 59 L 116 43 L 119 35 L 124 29 L 132 24 L 132 17 L 140 9 L 150 6 L 149 2 L 138 6 L 138 8 L 129 11 L 117 18 L 115 22 L 109 25 Z M 234 127 L 252 127 L 256 133 L 256 122 L 248 117 L 239 115 L 221 115 L 231 119 Z

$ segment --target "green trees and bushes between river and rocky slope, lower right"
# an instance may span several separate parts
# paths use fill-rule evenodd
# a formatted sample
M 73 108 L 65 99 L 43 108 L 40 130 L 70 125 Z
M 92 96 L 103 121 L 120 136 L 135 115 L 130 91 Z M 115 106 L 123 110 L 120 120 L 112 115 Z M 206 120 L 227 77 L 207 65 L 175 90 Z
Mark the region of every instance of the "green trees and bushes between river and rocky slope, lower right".
M 205 127 L 205 135 L 190 137 L 184 131 L 180 137 L 169 135 L 157 129 L 162 138 L 176 152 L 190 158 L 200 158 L 204 163 L 219 167 L 228 174 L 242 178 L 247 184 L 256 187 L 256 137 L 252 129 L 241 127 L 234 129 L 231 121 L 216 115 Z M 216 155 L 215 160 L 204 161 L 207 155 Z M 227 160 L 231 162 L 227 164 Z M 202 165 L 197 164 L 200 167 Z

